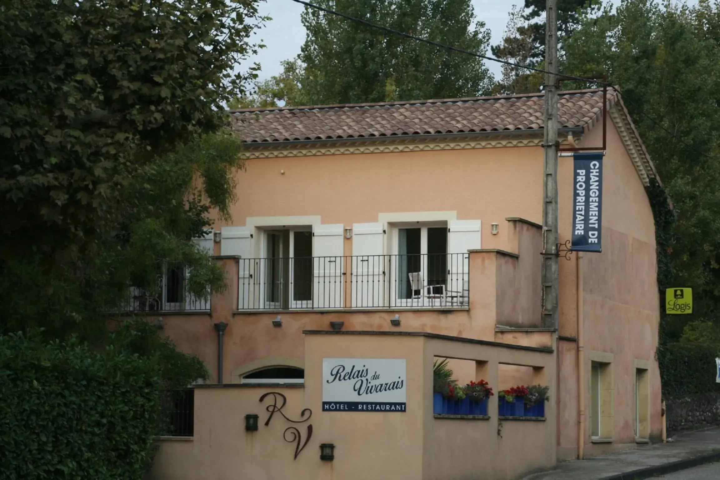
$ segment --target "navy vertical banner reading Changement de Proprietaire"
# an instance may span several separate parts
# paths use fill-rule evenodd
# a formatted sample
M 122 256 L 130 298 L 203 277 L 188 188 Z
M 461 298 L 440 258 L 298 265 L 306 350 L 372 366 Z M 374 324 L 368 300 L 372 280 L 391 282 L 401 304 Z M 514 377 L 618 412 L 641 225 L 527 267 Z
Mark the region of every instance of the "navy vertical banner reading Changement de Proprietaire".
M 603 251 L 603 154 L 575 153 L 572 169 L 572 246 Z

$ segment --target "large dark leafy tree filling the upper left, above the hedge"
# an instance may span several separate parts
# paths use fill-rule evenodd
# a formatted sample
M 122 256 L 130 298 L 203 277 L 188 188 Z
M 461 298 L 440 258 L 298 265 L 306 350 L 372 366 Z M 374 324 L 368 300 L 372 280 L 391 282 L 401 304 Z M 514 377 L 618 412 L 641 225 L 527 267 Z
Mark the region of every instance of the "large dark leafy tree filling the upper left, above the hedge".
M 0 331 L 97 338 L 168 263 L 223 286 L 192 242 L 234 201 L 223 105 L 257 65 L 256 0 L 9 0 L 0 7 Z

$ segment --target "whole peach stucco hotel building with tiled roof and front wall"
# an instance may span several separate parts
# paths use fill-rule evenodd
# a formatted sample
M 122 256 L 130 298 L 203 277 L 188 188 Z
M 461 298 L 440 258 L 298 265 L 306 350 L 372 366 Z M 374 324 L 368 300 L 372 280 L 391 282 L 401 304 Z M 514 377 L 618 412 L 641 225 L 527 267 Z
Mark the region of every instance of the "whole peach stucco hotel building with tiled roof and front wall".
M 201 241 L 228 290 L 191 302 L 166 279 L 156 308 L 212 384 L 150 477 L 516 479 L 660 438 L 657 175 L 609 91 L 603 250 L 561 255 L 559 325 L 543 326 L 543 100 L 231 112 L 246 168 L 232 221 Z M 603 91 L 564 92 L 559 113 L 563 146 L 602 145 Z M 559 158 L 561 243 L 572 162 Z M 549 386 L 544 417 L 498 417 L 497 397 L 487 415 L 435 415 L 436 358 L 496 392 Z M 402 368 L 402 411 L 328 410 L 328 359 Z

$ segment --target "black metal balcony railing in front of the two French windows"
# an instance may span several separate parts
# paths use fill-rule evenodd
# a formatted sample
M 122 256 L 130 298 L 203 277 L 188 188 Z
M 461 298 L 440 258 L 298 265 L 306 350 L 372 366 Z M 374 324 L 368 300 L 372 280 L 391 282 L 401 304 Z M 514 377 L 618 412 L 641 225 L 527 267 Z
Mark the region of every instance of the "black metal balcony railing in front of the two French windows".
M 468 307 L 468 253 L 240 258 L 238 271 L 238 310 Z

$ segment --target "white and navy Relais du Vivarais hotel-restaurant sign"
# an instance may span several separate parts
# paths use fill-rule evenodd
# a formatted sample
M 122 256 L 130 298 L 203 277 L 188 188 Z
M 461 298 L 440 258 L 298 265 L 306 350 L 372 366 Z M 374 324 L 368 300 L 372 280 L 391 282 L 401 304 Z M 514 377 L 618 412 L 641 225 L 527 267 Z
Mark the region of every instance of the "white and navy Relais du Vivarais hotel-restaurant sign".
M 404 358 L 323 358 L 323 412 L 405 412 Z

